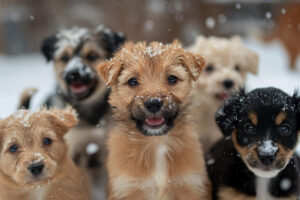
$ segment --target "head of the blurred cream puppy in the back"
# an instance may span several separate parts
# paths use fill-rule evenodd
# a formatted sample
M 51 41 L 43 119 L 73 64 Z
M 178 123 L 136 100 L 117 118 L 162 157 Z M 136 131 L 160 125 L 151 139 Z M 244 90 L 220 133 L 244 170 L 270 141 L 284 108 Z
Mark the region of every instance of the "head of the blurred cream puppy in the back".
M 200 53 L 206 67 L 195 88 L 214 105 L 244 87 L 246 74 L 257 73 L 258 55 L 245 48 L 239 37 L 205 38 L 199 36 L 190 49 Z

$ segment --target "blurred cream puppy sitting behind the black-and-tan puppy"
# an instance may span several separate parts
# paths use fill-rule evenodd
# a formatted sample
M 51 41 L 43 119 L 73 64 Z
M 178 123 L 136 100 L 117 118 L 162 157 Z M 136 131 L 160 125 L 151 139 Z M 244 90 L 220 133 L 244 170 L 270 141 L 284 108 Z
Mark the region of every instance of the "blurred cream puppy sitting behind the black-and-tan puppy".
M 203 55 L 207 62 L 192 90 L 193 120 L 206 152 L 222 136 L 215 124 L 215 112 L 224 99 L 245 85 L 247 73 L 257 73 L 258 55 L 246 48 L 238 36 L 230 39 L 199 36 L 188 49 Z

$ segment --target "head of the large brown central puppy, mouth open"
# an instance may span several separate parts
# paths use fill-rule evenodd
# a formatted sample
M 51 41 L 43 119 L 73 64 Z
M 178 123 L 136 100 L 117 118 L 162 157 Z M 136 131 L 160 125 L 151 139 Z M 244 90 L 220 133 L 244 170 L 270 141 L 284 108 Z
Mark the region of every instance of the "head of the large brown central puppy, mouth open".
M 127 43 L 99 74 L 112 86 L 110 104 L 119 119 L 133 120 L 144 135 L 163 135 L 184 107 L 191 81 L 197 80 L 204 59 L 174 41 Z

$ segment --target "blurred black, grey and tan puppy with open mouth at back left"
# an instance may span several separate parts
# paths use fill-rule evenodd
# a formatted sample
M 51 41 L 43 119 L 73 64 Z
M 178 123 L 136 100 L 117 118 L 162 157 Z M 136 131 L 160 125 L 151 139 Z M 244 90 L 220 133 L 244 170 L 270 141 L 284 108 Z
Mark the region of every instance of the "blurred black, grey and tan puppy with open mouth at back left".
M 96 67 L 111 58 L 124 41 L 123 33 L 102 25 L 94 30 L 63 29 L 42 42 L 41 51 L 48 62 L 53 62 L 57 80 L 56 92 L 45 104 L 60 108 L 69 104 L 76 109 L 80 122 L 68 133 L 67 141 L 74 161 L 90 171 L 104 168 L 104 143 L 111 125 L 107 102 L 110 90 L 97 75 Z M 27 107 L 30 97 L 22 98 Z M 96 174 L 93 178 L 98 179 Z

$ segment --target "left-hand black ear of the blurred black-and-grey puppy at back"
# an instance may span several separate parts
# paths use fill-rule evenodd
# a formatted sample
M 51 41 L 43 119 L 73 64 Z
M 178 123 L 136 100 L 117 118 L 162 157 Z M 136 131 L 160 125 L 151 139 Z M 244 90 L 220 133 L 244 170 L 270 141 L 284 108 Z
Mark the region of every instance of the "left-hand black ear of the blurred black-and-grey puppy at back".
M 53 60 L 54 53 L 56 50 L 56 42 L 58 41 L 58 38 L 56 35 L 51 35 L 43 40 L 41 45 L 41 52 L 45 56 L 46 60 L 49 62 Z

